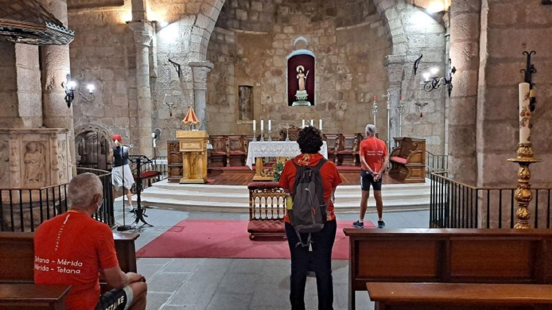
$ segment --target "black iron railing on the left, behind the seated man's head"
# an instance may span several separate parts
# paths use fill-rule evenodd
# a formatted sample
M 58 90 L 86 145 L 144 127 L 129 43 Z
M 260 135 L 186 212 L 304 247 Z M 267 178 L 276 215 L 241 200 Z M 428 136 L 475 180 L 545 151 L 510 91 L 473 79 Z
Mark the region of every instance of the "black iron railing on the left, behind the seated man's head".
M 91 168 L 77 168 L 77 173 L 91 172 L 103 184 L 103 204 L 94 215 L 109 226 L 115 224 L 111 173 Z M 34 231 L 42 222 L 65 213 L 68 183 L 41 188 L 0 189 L 0 231 Z

